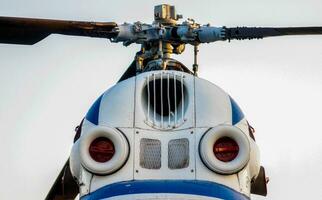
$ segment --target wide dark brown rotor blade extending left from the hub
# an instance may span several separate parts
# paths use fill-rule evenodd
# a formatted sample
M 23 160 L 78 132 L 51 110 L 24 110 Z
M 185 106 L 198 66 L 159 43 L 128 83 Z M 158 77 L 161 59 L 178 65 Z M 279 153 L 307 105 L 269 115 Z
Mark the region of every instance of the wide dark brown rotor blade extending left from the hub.
M 32 45 L 52 33 L 98 38 L 116 37 L 114 22 L 0 17 L 0 43 Z

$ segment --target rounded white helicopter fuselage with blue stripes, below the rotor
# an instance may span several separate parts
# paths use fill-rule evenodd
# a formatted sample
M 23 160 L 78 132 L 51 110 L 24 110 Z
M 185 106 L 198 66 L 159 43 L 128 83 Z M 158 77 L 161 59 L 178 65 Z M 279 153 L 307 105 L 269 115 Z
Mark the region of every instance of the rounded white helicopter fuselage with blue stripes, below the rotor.
M 113 157 L 97 162 L 92 142 L 106 137 Z M 214 143 L 236 141 L 223 162 Z M 107 90 L 87 113 L 70 167 L 80 199 L 249 199 L 259 150 L 234 100 L 216 85 L 180 71 L 150 71 Z

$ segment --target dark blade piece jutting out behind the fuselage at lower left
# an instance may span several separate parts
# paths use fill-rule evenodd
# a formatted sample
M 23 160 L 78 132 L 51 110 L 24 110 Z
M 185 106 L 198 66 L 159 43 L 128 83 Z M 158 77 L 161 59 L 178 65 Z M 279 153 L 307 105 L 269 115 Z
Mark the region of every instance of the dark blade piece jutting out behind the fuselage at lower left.
M 78 184 L 72 176 L 67 160 L 45 200 L 75 199 L 78 193 Z

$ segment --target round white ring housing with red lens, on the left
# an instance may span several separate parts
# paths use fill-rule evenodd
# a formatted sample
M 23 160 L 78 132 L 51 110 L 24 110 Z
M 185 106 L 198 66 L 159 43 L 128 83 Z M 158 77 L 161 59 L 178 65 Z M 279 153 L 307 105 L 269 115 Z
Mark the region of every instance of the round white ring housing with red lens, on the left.
M 119 170 L 129 157 L 129 143 L 117 129 L 96 126 L 80 137 L 80 160 L 88 171 L 107 175 Z

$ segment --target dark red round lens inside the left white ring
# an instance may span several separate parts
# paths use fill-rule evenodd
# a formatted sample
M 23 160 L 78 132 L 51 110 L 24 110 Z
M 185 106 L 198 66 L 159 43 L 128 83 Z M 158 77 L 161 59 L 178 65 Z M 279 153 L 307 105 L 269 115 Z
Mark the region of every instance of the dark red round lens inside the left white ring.
M 105 163 L 115 154 L 114 144 L 108 138 L 96 138 L 89 146 L 89 154 L 96 162 Z

